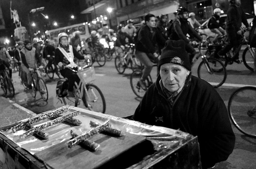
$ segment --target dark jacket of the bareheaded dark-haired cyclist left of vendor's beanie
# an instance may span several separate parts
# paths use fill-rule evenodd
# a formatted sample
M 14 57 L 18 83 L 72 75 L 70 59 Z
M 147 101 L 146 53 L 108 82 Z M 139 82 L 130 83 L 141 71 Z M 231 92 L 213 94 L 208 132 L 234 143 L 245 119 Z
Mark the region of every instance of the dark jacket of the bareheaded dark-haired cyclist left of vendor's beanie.
M 139 28 L 135 49 L 144 53 L 153 54 L 157 51 L 157 44 L 158 46 L 165 45 L 165 39 L 162 38 L 160 32 L 156 28 L 150 30 L 147 25 L 141 26 Z

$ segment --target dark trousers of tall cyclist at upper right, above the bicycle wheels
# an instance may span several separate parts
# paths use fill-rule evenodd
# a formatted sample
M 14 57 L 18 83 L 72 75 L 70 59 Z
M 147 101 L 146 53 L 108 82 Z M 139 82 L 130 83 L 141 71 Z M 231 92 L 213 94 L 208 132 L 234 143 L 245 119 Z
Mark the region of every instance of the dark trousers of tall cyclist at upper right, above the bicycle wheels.
M 218 54 L 223 56 L 225 55 L 228 51 L 230 51 L 233 47 L 233 49 L 238 49 L 238 46 L 240 45 L 241 42 L 241 35 L 238 35 L 236 30 L 226 30 L 227 31 L 227 39 L 228 39 L 228 44 L 226 46 L 224 46 L 219 52 Z M 239 52 L 233 56 L 233 59 L 238 59 L 239 58 Z

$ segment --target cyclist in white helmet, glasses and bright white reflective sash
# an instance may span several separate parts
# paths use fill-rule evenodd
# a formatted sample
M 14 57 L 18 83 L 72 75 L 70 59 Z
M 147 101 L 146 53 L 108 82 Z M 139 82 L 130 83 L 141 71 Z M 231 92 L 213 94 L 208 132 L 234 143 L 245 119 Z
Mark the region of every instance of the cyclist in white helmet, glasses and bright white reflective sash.
M 74 62 L 74 57 L 78 59 L 86 59 L 87 56 L 80 55 L 75 48 L 68 45 L 68 35 L 61 32 L 57 39 L 59 40 L 59 47 L 55 50 L 55 63 L 61 68 L 60 70 L 63 77 L 68 78 L 68 96 L 75 97 L 73 89 L 75 81 L 79 84 L 79 77 L 73 70 L 78 70 L 78 65 Z

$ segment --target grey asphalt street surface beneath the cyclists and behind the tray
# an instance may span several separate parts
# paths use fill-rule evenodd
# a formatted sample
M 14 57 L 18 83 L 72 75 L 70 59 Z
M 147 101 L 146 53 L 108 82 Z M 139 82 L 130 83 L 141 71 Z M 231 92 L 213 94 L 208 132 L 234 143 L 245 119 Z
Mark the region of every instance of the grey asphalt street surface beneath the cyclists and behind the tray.
M 193 75 L 195 76 L 197 76 L 197 66 L 200 61 L 199 59 L 192 68 Z M 126 69 L 124 74 L 118 74 L 114 67 L 114 60 L 107 62 L 103 67 L 98 67 L 97 63 L 94 63 L 94 66 L 97 78 L 94 84 L 101 89 L 105 96 L 106 114 L 117 117 L 132 115 L 140 101 L 132 92 L 130 86 L 129 77 L 132 70 Z M 235 63 L 228 65 L 227 73 L 225 84 L 217 88 L 217 91 L 226 105 L 229 96 L 237 87 L 244 85 L 256 86 L 256 74 L 245 68 L 244 64 L 238 65 Z M 153 74 L 156 74 L 156 68 L 153 69 Z M 28 91 L 24 90 L 23 86 L 20 84 L 18 72 L 13 73 L 13 81 L 16 95 L 14 98 L 10 99 L 37 114 L 62 105 L 57 99 L 55 92 L 56 83 L 58 81 L 57 78 L 53 80 L 45 78 L 49 93 L 47 102 L 41 99 L 39 92 L 37 93 L 36 99 L 34 99 Z M 2 94 L 3 91 L 0 91 L 0 95 Z M 256 168 L 256 160 L 255 158 L 251 158 L 256 153 L 256 139 L 245 137 L 234 127 L 233 130 L 236 134 L 235 149 L 229 159 L 218 164 L 216 168 Z

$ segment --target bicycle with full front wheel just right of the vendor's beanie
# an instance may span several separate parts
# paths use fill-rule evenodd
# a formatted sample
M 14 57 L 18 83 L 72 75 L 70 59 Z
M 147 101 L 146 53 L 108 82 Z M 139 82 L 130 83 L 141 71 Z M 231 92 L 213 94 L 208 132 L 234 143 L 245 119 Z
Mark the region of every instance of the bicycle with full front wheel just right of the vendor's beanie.
M 206 56 L 207 41 L 199 43 L 198 49 L 199 53 L 193 58 L 191 66 L 193 66 L 197 59 L 201 57 L 202 62 L 200 62 L 197 68 L 197 76 L 209 82 L 214 88 L 220 87 L 227 78 L 225 65 L 218 59 Z

